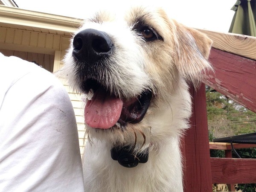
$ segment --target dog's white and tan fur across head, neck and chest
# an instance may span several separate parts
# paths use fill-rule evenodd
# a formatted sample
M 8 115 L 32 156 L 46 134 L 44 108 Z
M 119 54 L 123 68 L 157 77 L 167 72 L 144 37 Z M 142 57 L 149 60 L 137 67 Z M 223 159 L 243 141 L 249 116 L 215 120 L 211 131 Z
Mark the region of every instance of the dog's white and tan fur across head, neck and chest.
M 145 42 L 134 32 L 135 16 L 144 15 L 145 23 L 154 27 L 163 41 Z M 101 22 L 87 20 L 79 29 L 97 29 L 111 37 L 116 51 L 107 61 L 108 69 L 99 69 L 99 81 L 125 98 L 138 96 L 143 90 L 154 93 L 143 120 L 129 124 L 125 131 L 96 130 L 87 126 L 90 142 L 84 151 L 84 187 L 88 192 L 182 192 L 182 158 L 180 137 L 189 127 L 191 98 L 187 81 L 195 85 L 201 71 L 211 69 L 207 62 L 211 41 L 206 35 L 190 30 L 169 19 L 162 10 L 137 8 L 126 16 L 101 13 Z M 200 38 L 198 38 L 200 37 Z M 76 76 L 72 46 L 65 58 L 65 73 L 70 84 L 81 90 Z M 145 144 L 143 145 L 145 135 Z M 134 145 L 149 159 L 134 168 L 125 168 L 111 159 L 114 143 Z

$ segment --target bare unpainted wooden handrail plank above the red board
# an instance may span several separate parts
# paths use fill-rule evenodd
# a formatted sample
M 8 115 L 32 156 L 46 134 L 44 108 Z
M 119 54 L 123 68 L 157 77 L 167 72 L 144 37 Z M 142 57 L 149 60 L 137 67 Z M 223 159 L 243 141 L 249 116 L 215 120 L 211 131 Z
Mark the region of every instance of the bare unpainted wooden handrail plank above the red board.
M 198 30 L 207 34 L 212 39 L 212 47 L 256 60 L 255 37 L 234 33 L 212 32 L 203 29 Z

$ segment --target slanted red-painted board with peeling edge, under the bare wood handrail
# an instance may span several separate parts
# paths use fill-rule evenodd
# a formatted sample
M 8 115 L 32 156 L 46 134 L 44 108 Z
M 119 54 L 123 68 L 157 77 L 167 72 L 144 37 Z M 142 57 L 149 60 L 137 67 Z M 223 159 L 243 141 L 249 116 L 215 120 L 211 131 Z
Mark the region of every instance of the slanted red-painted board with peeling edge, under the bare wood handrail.
M 212 48 L 209 56 L 215 73 L 204 83 L 256 112 L 256 61 Z

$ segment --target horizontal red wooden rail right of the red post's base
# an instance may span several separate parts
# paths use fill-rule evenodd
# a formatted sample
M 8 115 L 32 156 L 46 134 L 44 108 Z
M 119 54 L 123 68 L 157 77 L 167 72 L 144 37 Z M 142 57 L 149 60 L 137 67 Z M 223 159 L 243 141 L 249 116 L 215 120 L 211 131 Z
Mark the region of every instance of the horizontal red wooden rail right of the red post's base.
M 212 183 L 256 183 L 256 159 L 211 158 Z

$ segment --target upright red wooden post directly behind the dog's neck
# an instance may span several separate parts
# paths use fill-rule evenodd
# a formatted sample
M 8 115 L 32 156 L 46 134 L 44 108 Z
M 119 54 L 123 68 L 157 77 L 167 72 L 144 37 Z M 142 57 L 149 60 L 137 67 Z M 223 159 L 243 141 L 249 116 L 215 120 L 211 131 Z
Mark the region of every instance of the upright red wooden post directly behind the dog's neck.
M 186 131 L 181 151 L 184 158 L 184 192 L 212 191 L 212 173 L 207 128 L 205 85 L 191 88 L 191 128 Z

